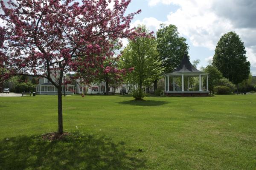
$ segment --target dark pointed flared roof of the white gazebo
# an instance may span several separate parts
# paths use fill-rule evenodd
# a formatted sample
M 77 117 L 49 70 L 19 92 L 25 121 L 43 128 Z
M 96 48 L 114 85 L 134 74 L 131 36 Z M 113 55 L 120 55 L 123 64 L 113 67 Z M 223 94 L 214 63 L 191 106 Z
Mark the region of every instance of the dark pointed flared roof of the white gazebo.
M 181 60 L 180 66 L 175 69 L 172 73 L 203 73 L 196 69 L 191 62 L 189 61 L 189 57 L 185 54 L 183 59 Z

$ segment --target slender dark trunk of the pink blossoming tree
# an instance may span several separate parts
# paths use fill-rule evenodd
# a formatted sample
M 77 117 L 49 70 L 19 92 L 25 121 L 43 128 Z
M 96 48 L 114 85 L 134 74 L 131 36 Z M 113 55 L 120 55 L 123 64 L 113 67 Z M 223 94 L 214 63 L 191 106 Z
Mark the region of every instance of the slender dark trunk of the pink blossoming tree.
M 63 133 L 63 121 L 62 121 L 62 88 L 58 86 L 58 133 Z

